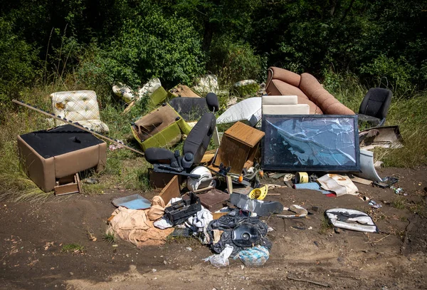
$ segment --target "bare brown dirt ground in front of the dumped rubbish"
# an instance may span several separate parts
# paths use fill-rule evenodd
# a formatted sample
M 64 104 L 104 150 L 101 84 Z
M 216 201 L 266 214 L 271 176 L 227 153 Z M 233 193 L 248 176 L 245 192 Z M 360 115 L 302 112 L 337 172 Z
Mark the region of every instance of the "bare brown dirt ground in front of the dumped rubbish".
M 111 200 L 135 192 L 115 189 L 97 196 L 53 197 L 43 204 L 3 203 L 0 289 L 427 289 L 427 214 L 421 207 L 427 198 L 426 173 L 427 167 L 379 170 L 381 176 L 399 177 L 406 194 L 400 196 L 357 184 L 361 195 L 382 204 L 380 209 L 354 196 L 272 191 L 280 195 L 270 200 L 301 204 L 314 214 L 264 219 L 274 229 L 268 233 L 273 248 L 260 268 L 231 259 L 230 266 L 216 269 L 201 261 L 211 252 L 196 239 L 143 249 L 119 240 L 112 247 L 102 240 L 115 209 Z M 323 215 L 333 207 L 369 212 L 381 233 L 334 232 Z M 88 239 L 88 231 L 96 242 Z M 83 245 L 84 252 L 61 251 L 71 243 Z

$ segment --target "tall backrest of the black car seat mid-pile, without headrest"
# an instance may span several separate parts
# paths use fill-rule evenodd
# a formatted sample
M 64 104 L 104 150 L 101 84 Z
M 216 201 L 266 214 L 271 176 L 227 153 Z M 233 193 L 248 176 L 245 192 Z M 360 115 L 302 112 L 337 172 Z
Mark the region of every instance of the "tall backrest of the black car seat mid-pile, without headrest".
M 184 158 L 187 153 L 194 156 L 193 164 L 199 163 L 214 135 L 216 118 L 212 113 L 205 113 L 197 122 L 184 141 Z

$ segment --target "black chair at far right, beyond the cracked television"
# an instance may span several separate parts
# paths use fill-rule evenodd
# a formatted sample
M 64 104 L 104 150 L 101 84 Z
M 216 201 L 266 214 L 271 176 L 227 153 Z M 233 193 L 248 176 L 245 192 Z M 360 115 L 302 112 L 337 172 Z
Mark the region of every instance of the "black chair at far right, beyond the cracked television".
M 359 108 L 359 121 L 381 127 L 386 123 L 386 116 L 391 104 L 391 90 L 386 88 L 371 88 L 365 95 Z

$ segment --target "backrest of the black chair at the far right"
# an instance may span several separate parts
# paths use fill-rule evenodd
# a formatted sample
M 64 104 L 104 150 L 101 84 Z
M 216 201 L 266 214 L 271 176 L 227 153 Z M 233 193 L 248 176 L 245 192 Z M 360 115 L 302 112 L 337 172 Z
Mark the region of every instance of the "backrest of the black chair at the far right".
M 386 118 L 389 112 L 393 93 L 386 88 L 370 88 L 360 104 L 359 114 L 379 118 Z

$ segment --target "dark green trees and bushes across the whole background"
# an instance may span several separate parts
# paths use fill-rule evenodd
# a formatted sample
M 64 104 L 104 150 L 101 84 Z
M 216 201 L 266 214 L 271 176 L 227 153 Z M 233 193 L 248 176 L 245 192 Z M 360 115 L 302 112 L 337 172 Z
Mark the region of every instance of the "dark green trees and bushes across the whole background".
M 19 0 L 0 4 L 2 99 L 79 73 L 88 86 L 167 86 L 211 71 L 352 73 L 397 93 L 427 81 L 426 1 Z

